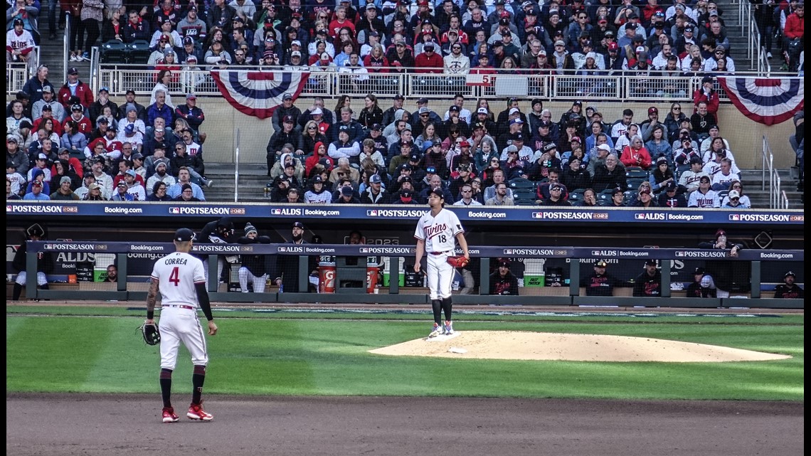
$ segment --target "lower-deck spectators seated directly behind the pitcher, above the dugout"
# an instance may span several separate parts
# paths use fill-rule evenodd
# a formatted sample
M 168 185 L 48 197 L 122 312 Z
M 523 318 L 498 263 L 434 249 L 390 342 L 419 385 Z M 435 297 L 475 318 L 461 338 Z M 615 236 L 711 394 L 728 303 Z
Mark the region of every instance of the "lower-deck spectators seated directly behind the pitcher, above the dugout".
M 693 114 L 675 102 L 663 118 L 650 106 L 643 119 L 626 109 L 613 122 L 581 101 L 559 117 L 540 99 L 525 113 L 515 98 L 503 106 L 480 99 L 469 109 L 456 94 L 435 110 L 426 98 L 411 107 L 399 95 L 384 101 L 368 94 L 359 113 L 350 97 L 333 113 L 320 98 L 303 110 L 285 97 L 274 114 L 280 130 L 266 150 L 266 196 L 425 204 L 428 189 L 442 187 L 449 204 L 468 206 L 748 209 L 735 156 L 714 117 L 713 81 L 705 83 L 693 94 Z M 570 199 L 574 193 L 580 197 Z

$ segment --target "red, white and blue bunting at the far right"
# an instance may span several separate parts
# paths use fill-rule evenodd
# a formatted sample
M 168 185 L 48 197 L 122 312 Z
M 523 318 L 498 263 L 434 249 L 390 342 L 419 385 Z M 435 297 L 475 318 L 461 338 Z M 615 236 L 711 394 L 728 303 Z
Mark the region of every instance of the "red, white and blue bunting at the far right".
M 720 76 L 718 81 L 732 104 L 755 122 L 766 125 L 784 122 L 804 105 L 802 78 Z

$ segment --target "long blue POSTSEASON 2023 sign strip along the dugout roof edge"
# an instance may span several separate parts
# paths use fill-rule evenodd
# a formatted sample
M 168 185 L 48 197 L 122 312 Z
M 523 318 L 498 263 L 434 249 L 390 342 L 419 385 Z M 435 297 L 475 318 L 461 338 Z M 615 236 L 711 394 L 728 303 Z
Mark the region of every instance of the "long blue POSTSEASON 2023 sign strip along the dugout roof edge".
M 753 209 L 738 211 L 730 209 L 605 209 L 596 208 L 544 208 L 543 206 L 516 206 L 493 208 L 477 206 L 474 209 L 446 206 L 457 214 L 462 222 L 476 222 L 487 225 L 494 222 L 520 222 L 532 224 L 540 222 L 566 223 L 707 223 L 735 225 L 803 225 L 805 215 L 798 210 Z M 362 204 L 217 204 L 177 202 L 127 202 L 97 203 L 84 202 L 64 204 L 60 201 L 15 201 L 6 204 L 6 217 L 61 217 L 71 219 L 98 217 L 143 217 L 143 218 L 189 218 L 209 219 L 211 217 L 248 217 L 251 221 L 272 221 L 295 218 L 302 222 L 323 222 L 325 220 L 386 222 L 388 220 L 415 220 L 427 212 L 427 206 L 367 206 Z

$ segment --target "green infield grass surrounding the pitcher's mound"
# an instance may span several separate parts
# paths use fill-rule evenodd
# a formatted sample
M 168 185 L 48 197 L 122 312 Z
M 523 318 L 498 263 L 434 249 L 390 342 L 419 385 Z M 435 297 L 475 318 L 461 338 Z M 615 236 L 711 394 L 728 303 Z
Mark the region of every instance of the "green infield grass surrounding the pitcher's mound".
M 6 393 L 155 393 L 157 347 L 140 309 L 6 308 Z M 584 363 L 371 355 L 422 338 L 427 312 L 215 312 L 207 394 L 802 401 L 802 315 L 457 316 L 458 330 L 525 330 L 650 337 L 791 355 L 744 363 Z M 178 394 L 191 389 L 182 350 Z

